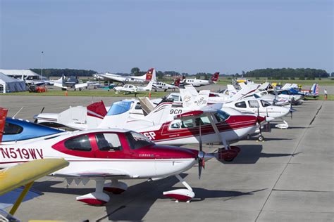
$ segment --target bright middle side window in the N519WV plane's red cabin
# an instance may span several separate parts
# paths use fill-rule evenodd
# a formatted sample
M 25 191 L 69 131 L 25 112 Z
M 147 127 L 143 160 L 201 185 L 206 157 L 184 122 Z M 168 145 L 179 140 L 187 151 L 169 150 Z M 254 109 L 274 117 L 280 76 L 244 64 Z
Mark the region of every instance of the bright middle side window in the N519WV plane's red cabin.
M 122 150 L 120 139 L 116 133 L 97 133 L 95 138 L 97 140 L 97 146 L 101 151 Z

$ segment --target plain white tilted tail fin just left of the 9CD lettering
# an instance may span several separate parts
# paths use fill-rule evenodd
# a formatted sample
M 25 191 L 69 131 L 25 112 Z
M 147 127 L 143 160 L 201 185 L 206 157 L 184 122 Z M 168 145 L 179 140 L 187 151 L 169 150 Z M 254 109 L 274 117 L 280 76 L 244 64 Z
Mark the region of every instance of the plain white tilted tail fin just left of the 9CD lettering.
M 166 122 L 170 115 L 171 102 L 163 102 L 154 107 L 154 109 L 149 112 L 149 114 L 144 118 L 149 120 L 150 122 L 154 122 L 154 124 L 161 124 L 163 122 Z

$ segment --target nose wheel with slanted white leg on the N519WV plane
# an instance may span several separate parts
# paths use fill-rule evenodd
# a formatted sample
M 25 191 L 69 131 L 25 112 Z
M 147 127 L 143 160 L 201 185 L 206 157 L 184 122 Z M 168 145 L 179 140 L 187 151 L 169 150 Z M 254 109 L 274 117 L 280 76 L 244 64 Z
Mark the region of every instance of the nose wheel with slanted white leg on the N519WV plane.
M 166 197 L 171 197 L 175 200 L 175 202 L 187 202 L 189 203 L 192 198 L 194 198 L 194 192 L 192 191 L 192 188 L 190 187 L 187 182 L 183 180 L 183 178 L 180 175 L 175 175 L 176 178 L 185 186 L 187 189 L 177 189 L 177 190 L 171 190 L 163 192 L 163 195 Z

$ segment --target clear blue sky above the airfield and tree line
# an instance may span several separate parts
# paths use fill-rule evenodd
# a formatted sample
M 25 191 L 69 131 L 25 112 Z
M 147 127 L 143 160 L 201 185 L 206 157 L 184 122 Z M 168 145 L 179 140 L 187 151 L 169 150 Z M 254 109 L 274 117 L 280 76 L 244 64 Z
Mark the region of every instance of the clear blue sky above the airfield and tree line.
M 0 0 L 0 68 L 333 72 L 333 1 Z

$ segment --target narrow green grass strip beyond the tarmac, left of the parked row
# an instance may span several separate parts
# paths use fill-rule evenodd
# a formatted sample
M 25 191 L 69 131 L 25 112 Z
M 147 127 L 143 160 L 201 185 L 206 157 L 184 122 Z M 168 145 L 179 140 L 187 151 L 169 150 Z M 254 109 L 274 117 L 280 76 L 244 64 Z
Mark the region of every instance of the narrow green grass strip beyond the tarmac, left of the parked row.
M 170 92 L 168 92 L 170 93 Z M 165 92 L 151 92 L 151 97 L 163 97 L 166 96 Z M 25 92 L 17 92 L 17 93 L 4 93 L 4 96 L 65 96 L 65 91 L 61 90 L 50 90 L 46 93 L 30 93 L 28 91 Z M 135 97 L 135 94 L 124 94 L 118 93 L 116 94 L 114 91 L 97 91 L 97 90 L 84 90 L 84 91 L 68 91 L 68 96 L 112 96 L 112 97 Z M 147 93 L 137 93 L 137 97 L 149 96 L 149 92 Z

